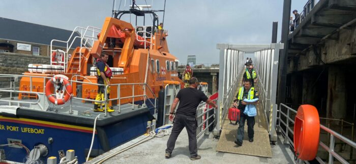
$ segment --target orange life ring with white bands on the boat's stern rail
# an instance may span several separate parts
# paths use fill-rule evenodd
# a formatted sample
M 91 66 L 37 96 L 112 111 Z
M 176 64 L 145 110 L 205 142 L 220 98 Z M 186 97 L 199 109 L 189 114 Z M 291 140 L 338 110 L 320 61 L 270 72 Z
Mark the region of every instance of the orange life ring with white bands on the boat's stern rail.
M 52 96 L 52 92 L 51 92 L 51 85 L 55 84 L 55 81 L 56 80 L 63 80 L 63 84 L 64 86 L 66 87 L 66 95 L 64 96 L 64 98 L 62 99 L 56 99 Z M 64 92 L 63 90 L 62 91 L 57 91 L 57 92 Z M 73 92 L 73 89 L 72 89 L 72 86 L 71 84 L 69 83 L 69 81 L 64 78 L 64 77 L 60 77 L 60 76 L 53 76 L 50 80 L 47 81 L 46 83 L 46 90 L 45 90 L 45 94 L 46 94 L 46 97 L 48 98 L 48 100 L 53 103 L 53 104 L 56 104 L 56 105 L 63 105 L 65 104 L 71 97 L 71 94 Z

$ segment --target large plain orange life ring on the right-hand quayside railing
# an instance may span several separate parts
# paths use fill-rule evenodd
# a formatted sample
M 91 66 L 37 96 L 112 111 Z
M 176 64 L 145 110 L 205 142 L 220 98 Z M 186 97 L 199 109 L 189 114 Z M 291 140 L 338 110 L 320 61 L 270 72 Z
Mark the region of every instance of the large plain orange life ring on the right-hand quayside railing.
M 294 152 L 302 160 L 312 160 L 318 152 L 320 121 L 313 105 L 301 105 L 294 118 Z

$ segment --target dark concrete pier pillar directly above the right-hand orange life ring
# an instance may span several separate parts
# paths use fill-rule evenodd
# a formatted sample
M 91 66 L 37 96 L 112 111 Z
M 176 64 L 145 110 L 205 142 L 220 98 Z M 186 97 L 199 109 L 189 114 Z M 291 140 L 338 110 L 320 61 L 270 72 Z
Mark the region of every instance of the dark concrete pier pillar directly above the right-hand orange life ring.
M 316 90 L 316 76 L 314 73 L 303 73 L 303 92 L 302 92 L 302 104 L 309 104 L 316 106 L 317 104 L 317 90 Z M 291 94 L 294 94 L 291 92 Z

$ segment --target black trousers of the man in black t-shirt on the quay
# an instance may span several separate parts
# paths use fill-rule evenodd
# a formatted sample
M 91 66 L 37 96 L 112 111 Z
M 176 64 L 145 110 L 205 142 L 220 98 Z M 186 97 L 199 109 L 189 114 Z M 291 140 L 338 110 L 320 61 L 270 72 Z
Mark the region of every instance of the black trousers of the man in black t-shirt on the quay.
M 195 117 L 188 117 L 180 114 L 177 114 L 174 118 L 172 132 L 167 141 L 166 153 L 172 153 L 175 146 L 175 141 L 177 140 L 177 137 L 182 132 L 184 127 L 186 127 L 188 132 L 190 156 L 196 157 L 198 155 L 198 148 L 196 143 L 197 121 Z

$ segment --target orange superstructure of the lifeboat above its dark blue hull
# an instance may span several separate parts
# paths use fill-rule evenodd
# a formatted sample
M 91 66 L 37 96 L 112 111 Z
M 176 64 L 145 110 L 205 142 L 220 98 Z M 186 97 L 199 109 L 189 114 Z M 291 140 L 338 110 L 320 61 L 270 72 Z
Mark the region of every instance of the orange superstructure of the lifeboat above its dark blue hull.
M 102 52 L 105 52 L 109 54 L 108 65 L 114 69 L 123 70 L 121 73 L 114 73 L 110 79 L 110 99 L 117 98 L 118 92 L 120 92 L 122 99 L 113 100 L 110 104 L 116 105 L 143 100 L 145 98 L 142 96 L 127 99 L 125 97 L 142 95 L 144 90 L 152 90 L 158 97 L 158 92 L 164 86 L 165 80 L 182 84 L 177 72 L 179 61 L 169 53 L 166 37 L 167 33 L 163 30 L 155 31 L 155 26 L 138 26 L 135 28 L 128 22 L 108 17 L 104 21 L 98 38 L 93 39 L 92 47 L 81 46 L 75 48 L 70 58 L 68 58 L 68 62 L 66 62 L 66 57 L 68 57 L 68 54 L 66 54 L 63 71 L 52 70 L 49 73 L 26 72 L 25 74 L 46 77 L 52 77 L 54 74 L 64 74 L 69 79 L 75 77 L 73 80 L 85 83 L 72 83 L 73 95 L 78 95 L 77 89 L 80 89 L 79 92 L 81 92 L 82 98 L 95 99 L 98 86 L 94 84 L 97 83 L 97 77 L 90 73 L 90 69 L 95 66 L 95 59 Z M 51 63 L 53 62 L 51 61 Z M 39 79 L 33 89 L 42 92 L 47 80 Z M 126 85 L 133 83 L 142 85 Z M 81 88 L 77 88 L 77 85 L 81 85 Z M 21 79 L 20 90 L 29 91 L 30 86 L 28 78 Z M 145 92 L 145 94 L 147 95 L 146 98 L 154 97 L 152 92 Z M 24 96 L 31 98 L 33 95 L 20 95 L 19 98 Z

